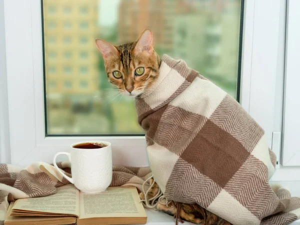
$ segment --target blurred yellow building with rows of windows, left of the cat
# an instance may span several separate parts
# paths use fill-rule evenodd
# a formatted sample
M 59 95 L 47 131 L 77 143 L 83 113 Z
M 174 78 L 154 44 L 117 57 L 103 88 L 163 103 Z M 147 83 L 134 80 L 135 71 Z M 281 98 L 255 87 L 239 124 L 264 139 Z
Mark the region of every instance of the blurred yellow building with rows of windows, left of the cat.
M 98 89 L 98 0 L 43 0 L 47 99 L 86 98 Z

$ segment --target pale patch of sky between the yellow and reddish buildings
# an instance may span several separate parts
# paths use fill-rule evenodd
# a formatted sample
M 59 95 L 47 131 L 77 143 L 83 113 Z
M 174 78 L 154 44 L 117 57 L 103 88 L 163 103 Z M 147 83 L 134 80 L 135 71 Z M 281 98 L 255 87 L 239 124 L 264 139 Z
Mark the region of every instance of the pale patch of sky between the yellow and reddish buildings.
M 116 23 L 118 3 L 120 0 L 99 0 L 98 23 L 103 26 L 109 26 Z

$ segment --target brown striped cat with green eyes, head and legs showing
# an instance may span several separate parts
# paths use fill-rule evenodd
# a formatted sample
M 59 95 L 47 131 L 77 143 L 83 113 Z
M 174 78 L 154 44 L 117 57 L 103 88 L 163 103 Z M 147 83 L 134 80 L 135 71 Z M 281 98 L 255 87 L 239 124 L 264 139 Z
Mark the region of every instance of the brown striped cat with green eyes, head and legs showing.
M 97 38 L 96 45 L 104 58 L 104 66 L 110 83 L 124 95 L 138 97 L 148 94 L 159 77 L 160 57 L 153 48 L 152 32 L 145 29 L 138 40 L 120 45 L 112 45 Z M 151 180 L 153 182 L 153 180 Z M 148 192 L 148 199 L 158 192 L 154 183 Z M 143 193 L 140 193 L 143 199 Z M 196 224 L 229 225 L 228 221 L 209 212 L 198 204 L 169 202 L 158 203 L 157 209 Z

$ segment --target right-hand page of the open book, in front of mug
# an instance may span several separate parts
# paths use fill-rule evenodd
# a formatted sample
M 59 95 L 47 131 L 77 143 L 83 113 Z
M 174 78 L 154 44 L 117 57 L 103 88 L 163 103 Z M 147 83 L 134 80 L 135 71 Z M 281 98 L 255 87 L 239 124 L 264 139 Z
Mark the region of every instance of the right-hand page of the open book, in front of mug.
M 101 193 L 80 192 L 80 216 L 146 217 L 135 187 L 108 187 Z

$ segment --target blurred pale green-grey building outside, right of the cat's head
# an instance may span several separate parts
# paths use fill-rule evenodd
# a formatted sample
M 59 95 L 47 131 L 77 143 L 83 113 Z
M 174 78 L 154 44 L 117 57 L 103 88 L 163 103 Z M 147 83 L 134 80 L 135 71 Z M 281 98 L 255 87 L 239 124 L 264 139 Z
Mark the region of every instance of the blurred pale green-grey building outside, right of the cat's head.
M 235 85 L 238 65 L 239 7 L 237 0 L 191 1 L 196 13 L 174 19 L 173 55 L 208 78 Z M 203 7 L 202 7 L 203 6 Z

